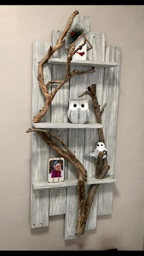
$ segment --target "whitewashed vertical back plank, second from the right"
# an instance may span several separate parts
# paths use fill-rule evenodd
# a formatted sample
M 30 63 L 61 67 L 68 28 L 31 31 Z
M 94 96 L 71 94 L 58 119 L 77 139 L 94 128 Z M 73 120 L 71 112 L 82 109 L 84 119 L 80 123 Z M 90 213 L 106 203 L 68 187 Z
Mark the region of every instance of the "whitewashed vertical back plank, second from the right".
M 89 62 L 104 62 L 105 57 L 105 45 L 106 38 L 104 33 L 90 32 L 88 34 L 88 40 L 93 45 L 93 48 L 88 51 Z M 88 86 L 91 84 L 96 84 L 96 95 L 98 102 L 102 105 L 103 102 L 103 82 L 104 82 L 104 68 L 95 68 L 95 73 L 88 75 Z M 95 113 L 93 110 L 92 100 L 90 100 L 90 112 L 91 112 L 91 122 L 96 122 Z M 85 153 L 90 153 L 90 151 L 96 148 L 96 143 L 98 142 L 98 132 L 97 130 L 85 130 Z M 87 169 L 88 177 L 96 176 L 96 159 L 86 158 L 84 159 L 84 166 Z M 93 200 L 90 213 L 88 215 L 87 224 L 85 230 L 96 229 L 97 220 L 97 207 L 98 207 L 98 192 L 96 193 L 95 199 Z

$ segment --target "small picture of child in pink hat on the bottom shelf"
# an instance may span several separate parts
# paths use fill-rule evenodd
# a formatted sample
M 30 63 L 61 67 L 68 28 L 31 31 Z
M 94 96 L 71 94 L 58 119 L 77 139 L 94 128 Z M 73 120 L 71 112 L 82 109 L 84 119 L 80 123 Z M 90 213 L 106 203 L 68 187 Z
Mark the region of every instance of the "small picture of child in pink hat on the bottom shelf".
M 49 158 L 49 182 L 61 182 L 64 180 L 64 158 Z

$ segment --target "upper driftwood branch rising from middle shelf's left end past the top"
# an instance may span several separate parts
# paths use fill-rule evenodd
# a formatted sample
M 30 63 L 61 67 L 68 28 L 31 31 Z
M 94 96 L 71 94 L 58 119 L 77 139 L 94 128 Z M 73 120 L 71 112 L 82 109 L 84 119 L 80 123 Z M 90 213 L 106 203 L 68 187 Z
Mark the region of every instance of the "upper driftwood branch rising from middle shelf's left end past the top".
M 52 56 L 52 54 L 54 54 L 58 49 L 62 48 L 62 46 L 65 43 L 65 35 L 67 34 L 68 30 L 71 27 L 71 24 L 73 23 L 73 19 L 74 17 L 79 13 L 78 10 L 75 10 L 75 12 L 73 12 L 68 20 L 67 26 L 65 27 L 65 29 L 62 32 L 62 35 L 60 35 L 59 39 L 57 40 L 57 43 L 55 46 L 53 47 L 49 47 L 48 53 L 46 53 L 45 57 L 43 57 L 43 59 L 38 62 L 38 82 L 39 82 L 39 86 L 41 89 L 41 92 L 43 93 L 46 101 L 45 101 L 45 105 L 43 106 L 43 109 L 40 109 L 40 111 L 38 112 L 37 115 L 35 115 L 33 122 L 37 123 L 41 120 L 41 118 L 46 114 L 46 112 L 49 109 L 49 106 L 51 106 L 51 102 L 54 98 L 54 96 L 56 95 L 57 91 L 63 86 L 63 84 L 65 84 L 66 82 L 68 82 L 71 78 L 73 78 L 74 75 L 78 74 L 85 74 L 85 73 L 93 73 L 95 72 L 94 68 L 92 68 L 91 70 L 87 70 L 87 71 L 78 71 L 78 70 L 74 70 L 70 73 L 70 66 L 71 66 L 71 60 L 73 59 L 73 55 L 76 53 L 76 51 L 78 51 L 79 49 L 82 48 L 82 46 L 85 45 L 86 40 L 84 40 L 84 42 L 79 45 L 79 47 L 77 47 L 77 49 L 75 49 L 75 46 L 71 46 L 70 51 L 68 53 L 68 57 L 67 57 L 67 68 L 66 68 L 66 73 L 65 73 L 65 78 L 62 79 L 61 81 L 49 81 L 45 84 L 44 81 L 44 76 L 43 76 L 43 66 L 45 65 L 45 63 L 49 60 L 49 58 Z M 57 87 L 53 90 L 52 93 L 50 93 L 48 91 L 48 86 L 51 84 L 58 84 Z

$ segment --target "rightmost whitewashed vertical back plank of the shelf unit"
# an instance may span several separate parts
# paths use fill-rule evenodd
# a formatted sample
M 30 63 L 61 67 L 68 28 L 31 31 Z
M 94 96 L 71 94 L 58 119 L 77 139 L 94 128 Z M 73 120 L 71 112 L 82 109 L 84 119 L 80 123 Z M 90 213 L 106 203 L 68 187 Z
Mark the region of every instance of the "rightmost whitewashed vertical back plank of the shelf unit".
M 107 46 L 106 61 L 121 62 L 121 48 Z M 115 169 L 119 86 L 120 66 L 105 68 L 103 104 L 107 103 L 107 106 L 103 113 L 103 127 L 108 150 L 107 160 L 110 165 L 110 175 L 114 174 Z M 101 184 L 99 186 L 98 215 L 112 213 L 112 198 L 112 184 Z

